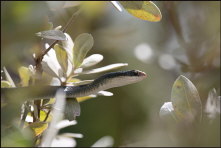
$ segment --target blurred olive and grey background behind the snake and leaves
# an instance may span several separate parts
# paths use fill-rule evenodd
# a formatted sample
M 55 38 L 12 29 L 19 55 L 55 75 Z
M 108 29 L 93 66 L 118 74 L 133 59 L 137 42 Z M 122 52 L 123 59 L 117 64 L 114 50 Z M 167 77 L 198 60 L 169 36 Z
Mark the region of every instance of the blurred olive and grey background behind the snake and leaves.
M 33 48 L 42 44 L 35 33 L 47 30 L 48 22 L 64 26 L 80 3 L 1 2 L 1 69 L 5 66 L 19 82 L 18 68 L 34 65 Z M 148 77 L 111 89 L 112 97 L 82 102 L 77 125 L 60 132 L 83 134 L 77 146 L 91 146 L 107 135 L 114 146 L 220 146 L 219 115 L 199 127 L 196 139 L 195 133 L 191 139 L 185 134 L 171 138 L 176 134 L 159 117 L 179 75 L 194 83 L 203 107 L 212 88 L 220 95 L 220 2 L 154 2 L 160 22 L 140 20 L 110 2 L 83 3 L 85 11 L 67 33 L 73 40 L 80 33 L 92 34 L 95 43 L 88 56 L 104 56 L 96 67 L 128 63 L 122 70 L 138 69 Z

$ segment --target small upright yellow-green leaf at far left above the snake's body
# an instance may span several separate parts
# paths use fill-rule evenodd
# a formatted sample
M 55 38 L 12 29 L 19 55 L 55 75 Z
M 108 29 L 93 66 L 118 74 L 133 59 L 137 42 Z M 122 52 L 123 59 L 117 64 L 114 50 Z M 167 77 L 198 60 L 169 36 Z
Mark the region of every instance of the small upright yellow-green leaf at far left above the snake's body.
M 20 67 L 18 69 L 19 77 L 21 79 L 21 85 L 22 86 L 28 86 L 29 85 L 29 80 L 30 80 L 30 72 L 27 67 Z

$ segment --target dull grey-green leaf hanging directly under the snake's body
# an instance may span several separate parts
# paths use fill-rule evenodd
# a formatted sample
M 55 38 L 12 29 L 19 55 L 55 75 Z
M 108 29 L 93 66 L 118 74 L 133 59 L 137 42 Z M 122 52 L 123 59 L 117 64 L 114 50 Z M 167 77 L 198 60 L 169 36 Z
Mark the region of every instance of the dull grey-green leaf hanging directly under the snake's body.
M 67 98 L 65 106 L 65 119 L 69 121 L 75 120 L 76 116 L 80 116 L 81 108 L 80 104 L 75 98 Z

